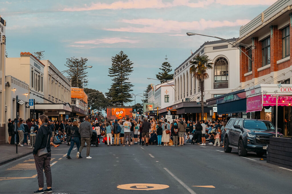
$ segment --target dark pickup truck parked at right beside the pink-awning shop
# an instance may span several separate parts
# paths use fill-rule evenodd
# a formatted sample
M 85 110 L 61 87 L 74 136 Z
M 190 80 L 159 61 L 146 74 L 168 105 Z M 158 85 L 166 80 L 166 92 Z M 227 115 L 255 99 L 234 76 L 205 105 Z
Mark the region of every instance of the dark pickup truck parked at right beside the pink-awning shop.
M 262 156 L 270 137 L 276 135 L 275 129 L 272 122 L 266 120 L 230 118 L 225 127 L 224 152 L 230 153 L 234 148 L 239 156 L 246 156 L 247 152 Z M 278 132 L 278 136 L 283 135 Z

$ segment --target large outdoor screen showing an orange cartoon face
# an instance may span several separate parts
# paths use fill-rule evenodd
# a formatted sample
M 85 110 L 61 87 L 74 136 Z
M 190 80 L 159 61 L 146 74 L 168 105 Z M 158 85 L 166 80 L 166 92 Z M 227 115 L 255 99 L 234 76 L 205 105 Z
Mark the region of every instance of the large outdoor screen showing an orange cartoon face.
M 121 107 L 107 107 L 107 119 L 126 119 L 127 117 L 132 118 L 132 107 L 121 106 Z

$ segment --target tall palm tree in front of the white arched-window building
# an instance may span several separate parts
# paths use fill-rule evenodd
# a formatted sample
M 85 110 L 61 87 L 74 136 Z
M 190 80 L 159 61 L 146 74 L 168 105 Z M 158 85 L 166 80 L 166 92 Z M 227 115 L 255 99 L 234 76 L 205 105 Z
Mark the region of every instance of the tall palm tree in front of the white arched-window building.
M 192 61 L 192 66 L 190 67 L 190 73 L 199 80 L 200 91 L 201 91 L 201 120 L 204 119 L 204 80 L 209 78 L 207 73 L 208 69 L 213 69 L 213 63 L 210 62 L 211 59 L 207 55 L 199 56 L 197 55 Z

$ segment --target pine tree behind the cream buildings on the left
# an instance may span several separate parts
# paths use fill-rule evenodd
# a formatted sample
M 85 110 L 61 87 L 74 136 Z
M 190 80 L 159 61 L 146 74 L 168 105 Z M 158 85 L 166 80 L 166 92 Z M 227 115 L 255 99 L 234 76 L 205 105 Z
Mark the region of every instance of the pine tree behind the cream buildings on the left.
M 87 71 L 86 71 L 86 62 L 87 58 L 67 58 L 66 67 L 70 70 L 67 71 L 67 79 L 71 80 L 72 87 L 82 88 L 86 87 L 88 83 Z

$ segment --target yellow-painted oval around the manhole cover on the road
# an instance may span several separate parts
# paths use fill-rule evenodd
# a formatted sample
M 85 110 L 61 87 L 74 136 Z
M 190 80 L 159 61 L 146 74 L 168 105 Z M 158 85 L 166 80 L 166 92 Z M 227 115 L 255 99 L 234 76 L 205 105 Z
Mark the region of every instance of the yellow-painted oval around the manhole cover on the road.
M 159 190 L 166 189 L 168 185 L 160 185 L 160 184 L 151 184 L 151 183 L 133 183 L 133 184 L 125 184 L 119 185 L 117 188 L 126 189 L 126 190 Z

